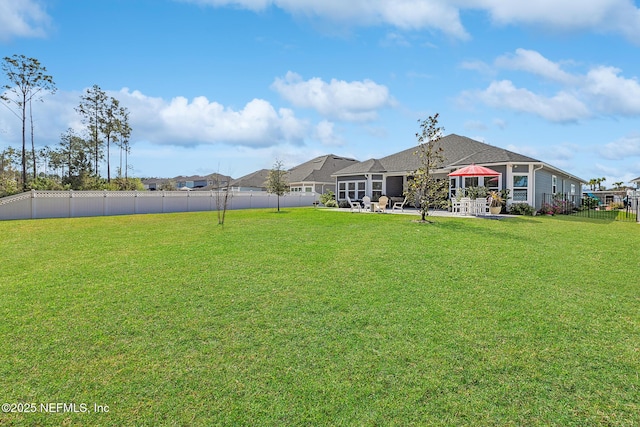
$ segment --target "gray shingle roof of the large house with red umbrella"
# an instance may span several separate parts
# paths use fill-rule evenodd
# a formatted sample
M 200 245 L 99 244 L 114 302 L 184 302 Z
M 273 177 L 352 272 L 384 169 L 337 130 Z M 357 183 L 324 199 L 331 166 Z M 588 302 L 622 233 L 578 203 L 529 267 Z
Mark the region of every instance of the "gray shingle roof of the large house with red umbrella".
M 471 163 L 540 162 L 532 157 L 485 144 L 465 136 L 447 135 L 437 143 L 442 147 L 444 167 L 455 168 Z M 337 171 L 334 175 L 359 175 L 371 172 L 407 172 L 420 167 L 419 158 L 414 153 L 416 147 L 383 157 L 369 159 Z

